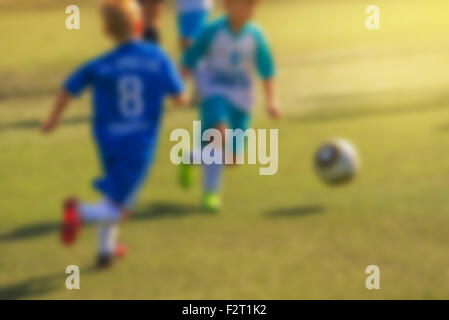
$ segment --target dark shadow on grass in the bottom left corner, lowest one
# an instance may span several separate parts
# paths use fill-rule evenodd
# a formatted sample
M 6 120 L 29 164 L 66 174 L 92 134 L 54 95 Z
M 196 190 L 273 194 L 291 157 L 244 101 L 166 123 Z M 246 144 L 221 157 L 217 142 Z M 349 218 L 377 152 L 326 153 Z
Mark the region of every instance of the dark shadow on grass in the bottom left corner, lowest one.
M 80 268 L 80 274 L 98 272 L 95 267 Z M 25 299 L 52 292 L 57 289 L 65 289 L 67 274 L 62 272 L 34 277 L 0 288 L 0 300 Z

